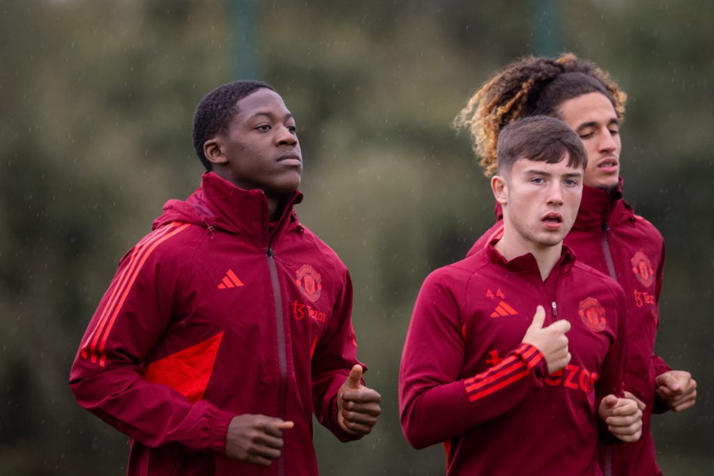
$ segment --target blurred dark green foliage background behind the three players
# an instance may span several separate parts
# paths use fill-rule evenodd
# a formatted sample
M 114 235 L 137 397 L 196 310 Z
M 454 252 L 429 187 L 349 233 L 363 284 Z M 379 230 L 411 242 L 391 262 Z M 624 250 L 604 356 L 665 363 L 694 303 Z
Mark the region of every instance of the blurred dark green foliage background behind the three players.
M 69 366 L 124 252 L 203 171 L 199 99 L 273 84 L 306 161 L 301 220 L 341 255 L 383 414 L 324 475 L 439 475 L 398 421 L 404 335 L 426 274 L 493 222 L 451 119 L 524 54 L 591 59 L 628 92 L 625 197 L 665 236 L 658 353 L 698 403 L 653 420 L 667 475 L 714 467 L 714 3 L 704 0 L 7 0 L 0 6 L 0 474 L 123 475 L 126 437 L 71 397 Z M 545 444 L 545 442 L 544 442 Z

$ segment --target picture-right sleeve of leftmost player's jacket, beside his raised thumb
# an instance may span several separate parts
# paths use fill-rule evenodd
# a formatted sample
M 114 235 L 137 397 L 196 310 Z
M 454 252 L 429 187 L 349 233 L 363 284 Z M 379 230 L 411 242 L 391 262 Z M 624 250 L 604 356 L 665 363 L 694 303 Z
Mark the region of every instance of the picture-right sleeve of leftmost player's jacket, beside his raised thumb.
M 313 411 L 321 425 L 338 440 L 358 440 L 362 435 L 346 432 L 337 422 L 337 392 L 357 360 L 357 340 L 352 326 L 352 281 L 345 272 L 330 328 L 316 344 L 311 362 Z

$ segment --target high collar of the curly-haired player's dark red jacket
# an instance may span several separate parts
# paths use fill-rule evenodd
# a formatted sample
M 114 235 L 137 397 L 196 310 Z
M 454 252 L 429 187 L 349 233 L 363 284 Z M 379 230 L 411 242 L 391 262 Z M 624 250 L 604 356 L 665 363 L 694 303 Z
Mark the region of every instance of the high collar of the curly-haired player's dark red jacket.
M 612 226 L 633 216 L 632 207 L 623 200 L 623 178 L 620 177 L 618 187 L 612 191 L 583 186 L 583 199 L 573 228 L 602 228 L 605 224 Z

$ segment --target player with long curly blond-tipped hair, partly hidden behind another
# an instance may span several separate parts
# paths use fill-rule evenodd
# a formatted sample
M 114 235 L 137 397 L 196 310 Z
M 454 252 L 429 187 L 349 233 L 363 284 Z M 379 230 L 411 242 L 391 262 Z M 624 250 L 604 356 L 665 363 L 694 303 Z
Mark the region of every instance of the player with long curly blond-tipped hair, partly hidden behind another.
M 573 54 L 558 59 L 526 57 L 507 66 L 469 99 L 455 119 L 473 138 L 486 176 L 497 166 L 496 144 L 503 127 L 519 118 L 545 114 L 563 120 L 578 133 L 588 153 L 583 201 L 565 244 L 578 260 L 618 281 L 627 298 L 628 333 L 625 395 L 643 410 L 638 442 L 603 447 L 605 475 L 661 475 L 656 462 L 650 416 L 680 412 L 696 400 L 690 373 L 672 370 L 654 355 L 663 280 L 664 242 L 652 223 L 624 201 L 620 178 L 620 123 L 626 95 L 610 75 Z M 501 211 L 491 230 L 469 254 L 481 250 L 503 230 Z

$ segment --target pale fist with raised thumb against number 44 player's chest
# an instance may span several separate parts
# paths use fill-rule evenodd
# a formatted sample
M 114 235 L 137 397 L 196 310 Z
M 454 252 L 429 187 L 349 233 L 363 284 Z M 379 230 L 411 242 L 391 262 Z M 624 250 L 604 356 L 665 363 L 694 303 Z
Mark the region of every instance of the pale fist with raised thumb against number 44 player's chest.
M 522 342 L 540 350 L 545 357 L 545 362 L 548 363 L 548 373 L 553 373 L 570 362 L 568 338 L 565 336 L 565 333 L 570 330 L 570 323 L 561 319 L 544 328 L 543 322 L 545 322 L 545 310 L 542 305 L 539 305 L 535 308 L 533 322 L 526 330 L 526 335 L 523 335 Z

